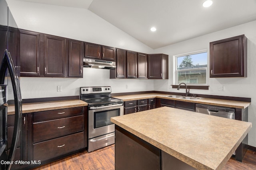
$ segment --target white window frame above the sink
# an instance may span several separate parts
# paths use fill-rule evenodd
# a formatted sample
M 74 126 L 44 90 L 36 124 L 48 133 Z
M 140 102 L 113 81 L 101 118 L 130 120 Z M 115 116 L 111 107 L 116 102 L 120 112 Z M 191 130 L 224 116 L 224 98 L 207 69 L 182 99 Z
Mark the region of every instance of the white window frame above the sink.
M 199 53 L 207 53 L 207 67 L 189 68 L 189 69 L 178 70 L 178 57 L 183 57 L 183 56 L 186 56 L 186 55 L 194 55 L 194 54 L 199 54 Z M 209 64 L 208 64 L 208 51 L 207 51 L 207 49 L 202 49 L 202 50 L 198 50 L 198 51 L 192 51 L 192 52 L 188 52 L 188 53 L 182 53 L 182 54 L 174 55 L 173 59 L 174 59 L 174 62 L 173 62 L 174 63 L 173 82 L 174 82 L 175 85 L 178 85 L 178 76 L 177 75 L 178 75 L 178 72 L 180 72 L 180 71 L 206 70 L 206 83 L 200 83 L 200 84 L 187 83 L 187 85 L 189 85 L 189 86 L 208 86 L 208 66 L 209 66 Z

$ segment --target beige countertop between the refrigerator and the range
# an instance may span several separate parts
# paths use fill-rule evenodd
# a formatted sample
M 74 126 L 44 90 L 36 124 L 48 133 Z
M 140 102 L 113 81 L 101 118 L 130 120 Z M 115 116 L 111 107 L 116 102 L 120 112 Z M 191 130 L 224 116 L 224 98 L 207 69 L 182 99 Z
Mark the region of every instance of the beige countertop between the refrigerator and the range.
M 22 113 L 31 113 L 37 111 L 66 109 L 70 107 L 88 106 L 88 104 L 82 100 L 62 100 L 54 102 L 38 102 L 22 104 Z M 15 112 L 14 106 L 8 106 L 8 115 L 12 115 Z

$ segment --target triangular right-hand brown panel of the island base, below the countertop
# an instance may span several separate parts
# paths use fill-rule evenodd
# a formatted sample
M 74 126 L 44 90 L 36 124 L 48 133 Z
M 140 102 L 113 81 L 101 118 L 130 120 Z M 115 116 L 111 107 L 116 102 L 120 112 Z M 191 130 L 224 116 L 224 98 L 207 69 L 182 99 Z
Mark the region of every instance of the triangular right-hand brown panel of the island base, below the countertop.
M 182 162 L 181 160 L 161 151 L 162 154 L 162 170 L 196 170 L 196 168 Z

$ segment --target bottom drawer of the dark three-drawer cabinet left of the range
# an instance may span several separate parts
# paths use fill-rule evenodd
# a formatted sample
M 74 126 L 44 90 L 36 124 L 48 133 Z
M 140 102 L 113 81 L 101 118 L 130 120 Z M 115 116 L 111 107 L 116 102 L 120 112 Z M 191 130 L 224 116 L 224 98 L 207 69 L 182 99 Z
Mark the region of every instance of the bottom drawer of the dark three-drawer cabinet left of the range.
M 33 144 L 33 160 L 44 161 L 82 148 L 84 148 L 84 133 L 80 132 Z

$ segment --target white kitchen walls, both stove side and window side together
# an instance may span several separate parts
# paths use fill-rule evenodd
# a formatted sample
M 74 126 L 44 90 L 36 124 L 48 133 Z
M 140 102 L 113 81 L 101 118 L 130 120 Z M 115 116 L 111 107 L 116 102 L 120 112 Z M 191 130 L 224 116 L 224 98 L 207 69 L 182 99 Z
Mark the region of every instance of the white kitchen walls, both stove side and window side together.
M 114 27 L 89 10 L 51 6 L 30 2 L 7 0 L 10 10 L 21 29 L 28 29 L 61 37 L 78 39 L 142 53 L 169 55 L 168 80 L 109 79 L 109 70 L 84 68 L 84 78 L 30 78 L 21 77 L 22 98 L 44 98 L 79 95 L 80 86 L 111 86 L 113 93 L 137 91 L 184 92 L 169 88 L 173 84 L 173 55 L 207 49 L 209 42 L 245 34 L 248 38 L 247 78 L 208 78 L 209 90 L 190 90 L 196 94 L 252 98 L 249 106 L 249 145 L 256 147 L 256 21 L 210 33 L 194 39 L 152 50 L 130 35 Z M 208 55 L 209 57 L 209 55 Z M 208 63 L 209 64 L 209 63 Z M 208 69 L 209 75 L 209 69 Z M 209 76 L 208 76 L 209 77 Z M 126 84 L 128 89 L 126 89 Z M 218 86 L 224 85 L 224 92 Z M 62 86 L 62 92 L 57 92 Z

